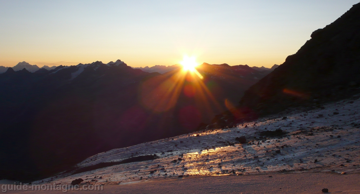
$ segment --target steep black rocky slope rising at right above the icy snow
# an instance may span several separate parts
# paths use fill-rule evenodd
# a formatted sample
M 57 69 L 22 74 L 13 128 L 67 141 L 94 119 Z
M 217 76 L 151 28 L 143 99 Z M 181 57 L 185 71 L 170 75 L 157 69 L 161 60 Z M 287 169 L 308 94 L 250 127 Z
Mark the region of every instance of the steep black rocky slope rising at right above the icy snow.
M 240 100 L 264 115 L 288 107 L 316 106 L 359 92 L 360 4 L 311 34 L 296 54 L 250 87 Z

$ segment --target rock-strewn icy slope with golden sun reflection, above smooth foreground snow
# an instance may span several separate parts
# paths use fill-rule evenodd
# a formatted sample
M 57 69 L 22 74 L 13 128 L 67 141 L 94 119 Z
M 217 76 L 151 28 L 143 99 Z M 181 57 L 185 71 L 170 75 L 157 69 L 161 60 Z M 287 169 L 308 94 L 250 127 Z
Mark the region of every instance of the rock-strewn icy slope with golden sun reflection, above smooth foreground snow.
M 360 126 L 360 100 L 356 98 L 359 96 L 309 112 L 287 114 L 285 111 L 230 129 L 199 131 L 180 135 L 174 139 L 161 139 L 127 148 L 112 149 L 89 157 L 77 166 L 117 162 L 132 156 L 148 154 L 157 154 L 160 158 L 114 165 L 75 175 L 60 174 L 33 183 L 66 184 L 82 178 L 92 184 L 123 184 L 129 181 L 163 179 L 179 175 L 247 175 L 302 171 L 359 172 L 360 130 L 357 127 Z M 339 114 L 334 115 L 334 112 Z M 319 114 L 323 116 L 319 117 Z M 282 119 L 283 116 L 287 116 L 287 119 Z M 257 123 L 254 125 L 255 122 Z M 355 124 L 359 125 L 355 126 Z M 244 128 L 245 125 L 248 127 Z M 289 133 L 282 138 L 259 139 L 260 131 L 279 128 Z M 196 136 L 197 134 L 199 136 Z M 251 142 L 238 144 L 235 138 L 243 135 Z M 341 137 L 337 138 L 338 135 Z M 219 142 L 231 142 L 235 145 L 227 146 Z M 280 150 L 280 153 L 275 152 L 276 150 Z M 315 159 L 318 162 L 314 162 Z M 174 160 L 177 161 L 172 162 Z M 154 172 L 150 173 L 150 171 Z

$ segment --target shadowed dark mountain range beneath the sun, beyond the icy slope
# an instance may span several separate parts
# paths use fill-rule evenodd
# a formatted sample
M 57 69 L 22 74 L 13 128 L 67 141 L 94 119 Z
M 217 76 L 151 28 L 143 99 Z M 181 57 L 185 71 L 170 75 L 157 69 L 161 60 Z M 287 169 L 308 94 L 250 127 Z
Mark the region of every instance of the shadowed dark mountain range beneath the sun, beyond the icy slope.
M 0 74 L 0 179 L 32 180 L 113 148 L 173 137 L 232 106 L 267 73 L 247 65 L 132 69 L 121 60 Z

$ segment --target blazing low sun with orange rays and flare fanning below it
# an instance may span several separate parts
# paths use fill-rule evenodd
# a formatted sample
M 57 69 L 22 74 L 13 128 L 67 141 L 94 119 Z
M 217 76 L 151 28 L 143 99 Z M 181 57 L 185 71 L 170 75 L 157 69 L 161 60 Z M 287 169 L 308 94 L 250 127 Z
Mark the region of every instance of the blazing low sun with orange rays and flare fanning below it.
M 187 70 L 179 68 L 171 73 L 144 80 L 139 87 L 139 100 L 141 105 L 153 114 L 168 112 L 166 115 L 171 115 L 179 111 L 176 107 L 191 105 L 195 109 L 180 109 L 177 116 L 186 128 L 195 129 L 195 123 L 200 123 L 202 118 L 212 118 L 216 112 L 222 112 L 223 108 L 205 85 L 203 75 L 197 70 L 203 70 L 202 66 L 195 68 L 197 63 L 194 57 L 185 56 L 183 62 L 184 69 Z

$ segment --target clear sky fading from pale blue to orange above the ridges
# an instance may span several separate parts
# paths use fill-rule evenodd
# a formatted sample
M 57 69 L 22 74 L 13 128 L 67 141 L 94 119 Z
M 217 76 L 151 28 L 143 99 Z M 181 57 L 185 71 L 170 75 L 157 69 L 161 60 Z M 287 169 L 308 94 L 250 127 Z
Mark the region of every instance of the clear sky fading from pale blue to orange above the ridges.
M 0 0 L 0 65 L 115 61 L 271 67 L 359 0 Z

